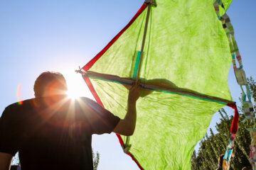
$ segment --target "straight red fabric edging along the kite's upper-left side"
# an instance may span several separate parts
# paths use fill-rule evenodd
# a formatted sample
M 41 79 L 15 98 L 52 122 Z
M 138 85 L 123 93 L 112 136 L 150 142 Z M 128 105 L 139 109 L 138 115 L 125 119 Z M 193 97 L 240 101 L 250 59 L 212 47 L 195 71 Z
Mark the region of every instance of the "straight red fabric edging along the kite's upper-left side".
M 90 60 L 90 62 L 88 62 L 84 67 L 82 67 L 83 70 L 85 70 L 85 72 L 90 69 L 90 67 L 92 67 L 93 64 L 95 64 L 95 62 L 102 57 L 102 55 L 114 44 L 114 42 L 122 35 L 122 33 L 124 33 L 125 30 L 127 30 L 127 28 L 129 28 L 129 26 L 132 25 L 132 23 L 134 23 L 134 21 L 138 18 L 138 16 L 142 13 L 142 11 L 144 11 L 144 9 L 146 8 L 146 4 L 143 4 L 141 8 L 139 8 L 139 11 L 135 14 L 135 16 L 132 18 L 131 21 L 129 21 L 129 23 L 127 24 L 127 26 L 125 26 L 108 44 L 105 48 L 103 48 L 103 50 L 101 52 L 99 52 L 92 60 Z

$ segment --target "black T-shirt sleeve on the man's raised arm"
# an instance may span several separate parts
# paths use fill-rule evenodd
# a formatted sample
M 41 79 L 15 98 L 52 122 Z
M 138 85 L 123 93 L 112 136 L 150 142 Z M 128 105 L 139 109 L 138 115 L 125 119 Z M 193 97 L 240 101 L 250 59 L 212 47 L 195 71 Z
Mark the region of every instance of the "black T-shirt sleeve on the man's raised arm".
M 105 108 L 102 108 L 100 104 L 96 103 L 87 98 L 87 106 L 90 110 L 90 129 L 92 134 L 103 134 L 111 133 L 119 123 L 120 118 L 116 115 L 113 115 L 110 111 L 107 111 Z

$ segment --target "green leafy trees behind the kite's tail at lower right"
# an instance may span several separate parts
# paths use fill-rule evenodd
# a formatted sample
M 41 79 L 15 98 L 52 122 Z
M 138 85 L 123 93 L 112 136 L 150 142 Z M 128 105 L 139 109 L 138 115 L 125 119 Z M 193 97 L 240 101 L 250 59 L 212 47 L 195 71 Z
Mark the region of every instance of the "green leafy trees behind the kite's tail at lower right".
M 256 99 L 256 83 L 250 77 L 248 79 L 248 84 L 252 93 L 252 98 Z M 228 145 L 228 140 L 230 137 L 230 125 L 233 121 L 233 115 L 228 116 L 228 113 L 224 109 L 219 111 L 220 113 L 220 123 L 215 125 L 216 131 L 213 132 L 210 129 L 209 134 L 206 134 L 201 140 L 200 148 L 198 153 L 193 152 L 191 159 L 192 169 L 217 169 L 218 166 L 218 157 L 221 154 L 225 154 L 225 149 Z M 250 133 L 246 128 L 252 128 L 255 125 L 255 121 L 247 120 L 242 122 L 245 119 L 242 109 L 240 109 L 240 120 L 239 120 L 239 130 L 235 138 L 235 147 L 233 151 L 233 158 L 231 159 L 230 169 L 241 170 L 244 166 L 250 166 L 249 154 L 250 154 L 250 142 L 251 137 Z

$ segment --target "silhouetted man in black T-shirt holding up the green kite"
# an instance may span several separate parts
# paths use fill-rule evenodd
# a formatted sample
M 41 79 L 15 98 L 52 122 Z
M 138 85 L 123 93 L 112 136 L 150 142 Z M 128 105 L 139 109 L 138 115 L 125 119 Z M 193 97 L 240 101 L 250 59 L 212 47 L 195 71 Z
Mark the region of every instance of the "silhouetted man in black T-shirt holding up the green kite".
M 22 170 L 93 169 L 92 134 L 132 135 L 139 85 L 129 90 L 128 111 L 120 119 L 89 98 L 65 95 L 62 74 L 43 72 L 34 85 L 36 98 L 5 108 L 0 119 L 0 170 L 19 152 Z

